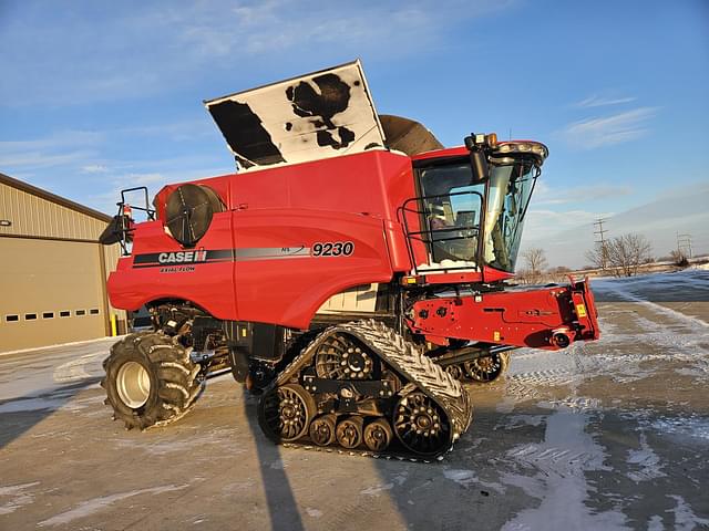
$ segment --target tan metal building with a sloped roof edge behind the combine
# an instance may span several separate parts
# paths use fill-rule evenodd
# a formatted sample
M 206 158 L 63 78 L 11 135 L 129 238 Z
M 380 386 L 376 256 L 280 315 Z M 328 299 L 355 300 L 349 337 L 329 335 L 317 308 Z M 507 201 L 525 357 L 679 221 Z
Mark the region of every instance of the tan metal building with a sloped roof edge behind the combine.
M 0 174 L 0 352 L 111 335 L 110 216 Z

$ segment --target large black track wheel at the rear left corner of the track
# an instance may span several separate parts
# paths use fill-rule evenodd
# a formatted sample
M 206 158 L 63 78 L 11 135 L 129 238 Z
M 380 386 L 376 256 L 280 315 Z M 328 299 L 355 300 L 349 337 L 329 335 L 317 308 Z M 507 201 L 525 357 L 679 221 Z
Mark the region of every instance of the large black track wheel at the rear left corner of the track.
M 298 384 L 287 384 L 261 397 L 258 421 L 275 442 L 292 442 L 308 433 L 315 412 L 312 396 Z

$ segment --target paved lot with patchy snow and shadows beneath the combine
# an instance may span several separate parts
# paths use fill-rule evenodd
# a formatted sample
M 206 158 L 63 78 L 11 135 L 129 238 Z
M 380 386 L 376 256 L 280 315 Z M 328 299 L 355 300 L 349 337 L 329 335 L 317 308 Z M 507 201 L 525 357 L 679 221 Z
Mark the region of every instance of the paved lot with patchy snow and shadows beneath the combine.
M 603 341 L 517 351 L 432 465 L 275 447 L 226 377 L 125 431 L 97 385 L 111 340 L 0 356 L 0 529 L 709 528 L 709 298 L 597 291 Z

